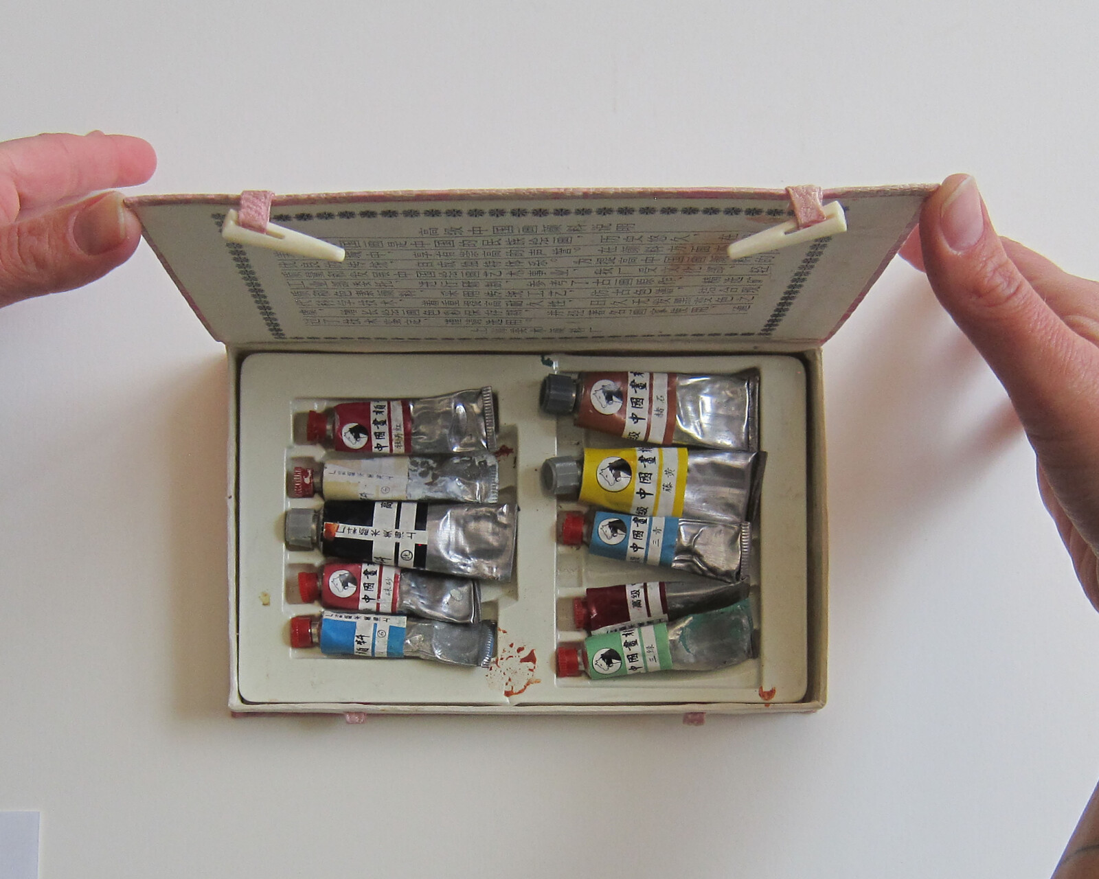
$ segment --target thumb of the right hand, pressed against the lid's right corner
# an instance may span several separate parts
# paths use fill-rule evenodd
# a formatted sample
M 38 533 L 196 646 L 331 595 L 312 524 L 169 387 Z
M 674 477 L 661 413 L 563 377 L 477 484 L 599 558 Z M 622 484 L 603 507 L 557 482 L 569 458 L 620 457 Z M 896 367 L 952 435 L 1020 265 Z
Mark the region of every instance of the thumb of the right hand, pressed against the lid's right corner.
M 1003 383 L 1054 486 L 1066 470 L 1090 469 L 1099 448 L 1099 348 L 1008 257 L 973 177 L 947 177 L 924 202 L 920 243 L 935 296 Z M 1079 280 L 1059 274 L 1066 283 Z M 1099 321 L 1099 305 L 1080 316 Z

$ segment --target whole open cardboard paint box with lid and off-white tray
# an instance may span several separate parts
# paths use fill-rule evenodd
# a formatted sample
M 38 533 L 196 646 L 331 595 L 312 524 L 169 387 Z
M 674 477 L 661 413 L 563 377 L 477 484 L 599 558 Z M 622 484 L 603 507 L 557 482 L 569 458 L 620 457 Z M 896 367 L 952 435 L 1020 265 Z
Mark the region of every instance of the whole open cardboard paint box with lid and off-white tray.
M 821 346 L 915 222 L 932 187 L 832 190 L 847 232 L 741 260 L 725 247 L 792 215 L 777 190 L 519 190 L 278 197 L 271 221 L 343 246 L 303 259 L 221 236 L 236 196 L 131 199 L 145 236 L 231 359 L 230 708 L 240 713 L 813 711 L 824 704 L 828 522 Z M 715 672 L 557 678 L 582 637 L 582 588 L 680 579 L 557 547 L 544 458 L 585 436 L 537 410 L 554 369 L 763 372 L 768 452 L 754 554 L 758 659 Z M 519 498 L 511 582 L 486 590 L 500 626 L 490 669 L 297 650 L 281 520 L 296 413 L 342 399 L 491 385 Z M 508 469 L 508 468 L 506 468 Z

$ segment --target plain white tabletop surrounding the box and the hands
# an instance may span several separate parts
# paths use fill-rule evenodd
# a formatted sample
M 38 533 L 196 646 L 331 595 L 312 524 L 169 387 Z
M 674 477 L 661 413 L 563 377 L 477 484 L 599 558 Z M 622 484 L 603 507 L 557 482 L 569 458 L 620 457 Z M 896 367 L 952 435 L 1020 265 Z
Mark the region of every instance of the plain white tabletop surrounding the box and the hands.
M 145 192 L 967 170 L 1099 276 L 1094 5 L 765 5 L 10 2 L 0 138 L 142 135 Z M 825 352 L 822 712 L 348 726 L 224 708 L 225 367 L 149 251 L 4 309 L 0 809 L 46 877 L 1047 875 L 1099 617 L 1031 452 L 904 265 Z

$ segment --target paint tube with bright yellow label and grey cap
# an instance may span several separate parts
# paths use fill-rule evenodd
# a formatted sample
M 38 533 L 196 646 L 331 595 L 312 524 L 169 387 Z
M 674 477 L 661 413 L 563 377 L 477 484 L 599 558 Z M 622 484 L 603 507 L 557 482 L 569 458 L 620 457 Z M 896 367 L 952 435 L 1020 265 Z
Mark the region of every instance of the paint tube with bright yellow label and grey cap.
M 562 500 L 604 510 L 737 524 L 755 507 L 765 458 L 763 452 L 586 448 L 582 460 L 547 458 L 542 485 Z

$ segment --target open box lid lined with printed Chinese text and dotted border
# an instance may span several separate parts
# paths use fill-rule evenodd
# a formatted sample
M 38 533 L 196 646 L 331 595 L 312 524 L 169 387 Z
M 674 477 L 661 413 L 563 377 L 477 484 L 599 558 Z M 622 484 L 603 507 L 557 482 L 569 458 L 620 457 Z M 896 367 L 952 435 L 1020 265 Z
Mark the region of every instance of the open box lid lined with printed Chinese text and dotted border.
M 238 196 L 127 200 L 211 335 L 264 348 L 804 348 L 831 336 L 933 186 L 823 192 L 847 231 L 732 260 L 795 215 L 784 190 L 279 196 L 270 221 L 342 263 L 221 235 Z

